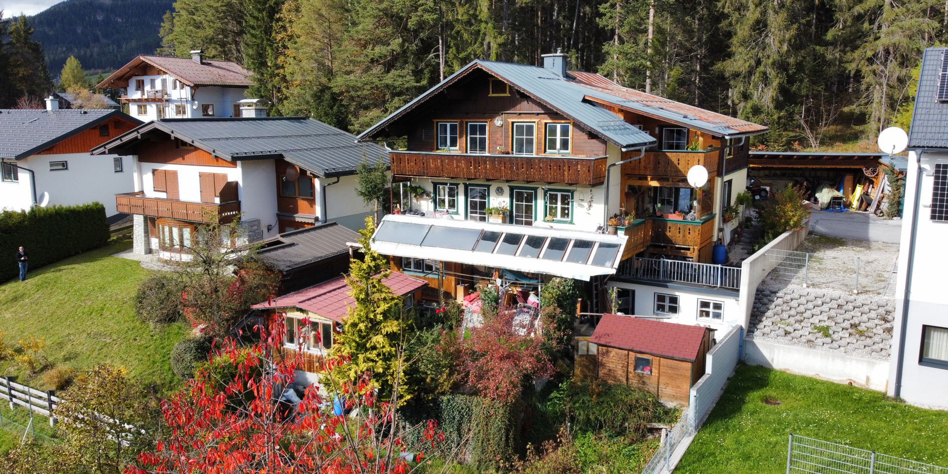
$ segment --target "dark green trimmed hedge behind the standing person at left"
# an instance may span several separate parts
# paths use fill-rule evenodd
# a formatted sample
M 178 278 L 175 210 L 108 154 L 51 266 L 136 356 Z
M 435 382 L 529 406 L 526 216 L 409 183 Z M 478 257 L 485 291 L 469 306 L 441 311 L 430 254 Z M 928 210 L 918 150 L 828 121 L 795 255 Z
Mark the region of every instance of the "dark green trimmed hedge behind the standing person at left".
M 29 270 L 34 270 L 108 241 L 105 208 L 99 203 L 0 212 L 0 282 L 19 275 L 19 246 L 26 248 Z

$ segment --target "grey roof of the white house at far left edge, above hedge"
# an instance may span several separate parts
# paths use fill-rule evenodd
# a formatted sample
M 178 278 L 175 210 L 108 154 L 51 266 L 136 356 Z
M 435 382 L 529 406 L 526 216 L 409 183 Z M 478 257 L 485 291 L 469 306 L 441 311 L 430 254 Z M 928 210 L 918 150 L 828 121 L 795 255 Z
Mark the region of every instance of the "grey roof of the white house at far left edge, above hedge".
M 112 109 L 0 109 L 0 157 L 23 159 L 114 117 Z

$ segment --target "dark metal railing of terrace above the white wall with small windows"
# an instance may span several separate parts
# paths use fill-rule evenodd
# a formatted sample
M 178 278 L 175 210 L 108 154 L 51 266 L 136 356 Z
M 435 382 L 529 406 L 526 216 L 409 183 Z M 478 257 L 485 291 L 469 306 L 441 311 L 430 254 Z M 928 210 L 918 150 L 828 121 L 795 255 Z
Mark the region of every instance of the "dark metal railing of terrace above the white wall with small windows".
M 703 284 L 731 289 L 740 288 L 740 267 L 737 266 L 632 257 L 619 264 L 619 269 L 615 274 L 655 282 Z

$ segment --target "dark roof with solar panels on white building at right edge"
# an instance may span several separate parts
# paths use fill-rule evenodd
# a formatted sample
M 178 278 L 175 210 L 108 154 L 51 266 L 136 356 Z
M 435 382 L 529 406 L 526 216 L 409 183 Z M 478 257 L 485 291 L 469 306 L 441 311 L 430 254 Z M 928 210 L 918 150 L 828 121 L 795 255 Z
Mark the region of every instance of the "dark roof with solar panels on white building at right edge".
M 926 47 L 921 57 L 919 91 L 908 129 L 909 148 L 948 148 L 948 102 L 939 102 L 939 75 L 945 47 Z

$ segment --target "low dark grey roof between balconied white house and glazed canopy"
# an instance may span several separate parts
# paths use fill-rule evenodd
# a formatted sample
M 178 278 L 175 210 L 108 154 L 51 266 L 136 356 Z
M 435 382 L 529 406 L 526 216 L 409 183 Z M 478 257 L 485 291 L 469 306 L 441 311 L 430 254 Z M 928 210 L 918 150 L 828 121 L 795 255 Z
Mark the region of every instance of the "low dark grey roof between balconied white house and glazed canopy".
M 267 245 L 271 246 L 261 250 L 260 257 L 267 264 L 286 272 L 349 253 L 349 246 L 346 246 L 346 243 L 356 242 L 358 239 L 359 234 L 355 230 L 332 222 L 313 228 L 284 232 L 267 242 Z

